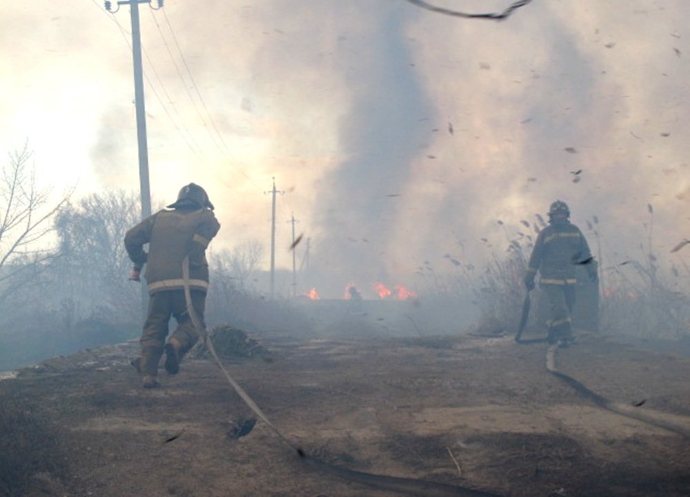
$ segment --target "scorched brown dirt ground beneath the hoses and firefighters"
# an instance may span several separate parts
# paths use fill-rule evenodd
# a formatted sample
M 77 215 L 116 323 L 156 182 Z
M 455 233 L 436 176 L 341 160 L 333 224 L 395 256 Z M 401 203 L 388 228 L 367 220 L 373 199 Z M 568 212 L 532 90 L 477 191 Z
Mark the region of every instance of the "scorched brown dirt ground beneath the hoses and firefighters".
M 23 463 L 21 495 L 401 495 L 308 464 L 295 447 L 340 468 L 500 496 L 690 495 L 688 438 L 583 398 L 544 369 L 543 344 L 253 338 L 268 353 L 226 367 L 292 446 L 261 420 L 237 437 L 256 416 L 209 359 L 161 371 L 163 387 L 149 391 L 129 365 L 137 343 L 102 347 L 0 382 L 0 407 L 42 430 L 23 450 L 51 459 Z M 690 429 L 689 358 L 589 335 L 557 361 L 598 394 Z

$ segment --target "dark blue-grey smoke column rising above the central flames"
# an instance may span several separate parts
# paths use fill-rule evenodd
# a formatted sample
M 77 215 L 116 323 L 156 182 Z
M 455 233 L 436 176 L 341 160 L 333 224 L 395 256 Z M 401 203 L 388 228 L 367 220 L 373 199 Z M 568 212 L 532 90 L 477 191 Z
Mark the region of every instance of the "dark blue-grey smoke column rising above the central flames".
M 333 58 L 351 103 L 338 125 L 345 159 L 319 182 L 317 226 L 324 236 L 314 252 L 317 268 L 333 278 L 324 290 L 335 294 L 347 283 L 390 284 L 386 244 L 435 112 L 404 32 L 409 12 L 385 6 L 370 10 L 364 32 L 339 34 Z

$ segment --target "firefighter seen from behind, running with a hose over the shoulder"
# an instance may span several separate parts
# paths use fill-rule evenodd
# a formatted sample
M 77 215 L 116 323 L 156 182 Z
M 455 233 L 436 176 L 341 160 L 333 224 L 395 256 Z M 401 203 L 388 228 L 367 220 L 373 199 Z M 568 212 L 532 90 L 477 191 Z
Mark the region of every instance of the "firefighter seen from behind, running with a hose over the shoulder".
M 203 324 L 208 289 L 206 247 L 219 228 L 206 191 L 190 183 L 182 187 L 177 201 L 168 209 L 149 216 L 125 234 L 125 247 L 135 265 L 130 279 L 139 280 L 139 271 L 146 263 L 148 316 L 141 334 L 141 357 L 132 361 L 143 378 L 144 388 L 159 387 L 158 363 L 164 352 L 166 371 L 177 374 L 182 357 L 199 338 L 188 312 L 184 285 L 190 287 L 191 304 Z M 144 251 L 146 243 L 148 253 Z M 187 282 L 182 276 L 186 256 Z M 171 316 L 177 321 L 177 329 L 166 343 Z

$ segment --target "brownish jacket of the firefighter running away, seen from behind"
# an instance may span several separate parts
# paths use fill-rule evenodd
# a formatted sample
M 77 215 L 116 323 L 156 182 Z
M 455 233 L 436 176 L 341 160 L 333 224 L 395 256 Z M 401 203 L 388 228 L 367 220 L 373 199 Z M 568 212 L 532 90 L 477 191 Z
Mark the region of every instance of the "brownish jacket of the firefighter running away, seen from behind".
M 136 265 L 146 263 L 148 292 L 183 290 L 182 261 L 189 255 L 190 289 L 208 289 L 206 247 L 220 229 L 212 211 L 184 207 L 161 210 L 125 234 L 127 253 Z M 144 244 L 149 244 L 148 254 Z

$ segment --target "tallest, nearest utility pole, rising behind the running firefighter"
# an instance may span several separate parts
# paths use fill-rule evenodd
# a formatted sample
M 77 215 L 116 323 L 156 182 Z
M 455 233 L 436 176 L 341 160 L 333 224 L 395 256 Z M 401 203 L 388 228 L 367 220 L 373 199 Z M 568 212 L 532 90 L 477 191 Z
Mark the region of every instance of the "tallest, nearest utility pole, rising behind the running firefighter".
M 146 105 L 144 105 L 144 69 L 141 67 L 141 30 L 139 30 L 139 3 L 150 3 L 151 0 L 119 0 L 117 10 L 121 5 L 130 6 L 132 22 L 132 60 L 134 62 L 134 102 L 137 114 L 137 144 L 139 147 L 139 196 L 141 197 L 141 219 L 151 215 L 151 188 L 148 181 L 148 143 L 146 140 Z M 106 1 L 106 10 L 110 10 L 112 3 Z M 163 0 L 158 0 L 158 8 L 163 6 Z M 148 308 L 148 289 L 141 285 L 141 312 L 146 318 Z

